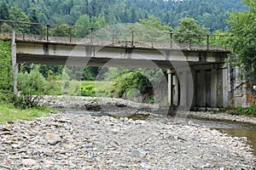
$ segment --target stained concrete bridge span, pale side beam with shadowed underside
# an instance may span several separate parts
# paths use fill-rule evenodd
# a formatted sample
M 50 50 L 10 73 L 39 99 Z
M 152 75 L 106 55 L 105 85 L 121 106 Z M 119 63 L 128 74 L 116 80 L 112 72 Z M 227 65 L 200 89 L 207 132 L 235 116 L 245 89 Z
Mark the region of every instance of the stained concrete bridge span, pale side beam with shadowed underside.
M 172 61 L 177 61 L 175 63 L 177 67 L 183 66 L 183 62 L 189 62 L 189 65 L 224 63 L 229 53 L 219 50 L 100 46 L 79 42 L 19 40 L 16 43 L 18 63 L 49 65 L 102 66 L 113 59 L 117 61 L 113 66 L 128 64 L 126 66 L 151 67 L 151 65 L 143 65 L 145 60 L 149 60 L 160 68 L 173 68 Z

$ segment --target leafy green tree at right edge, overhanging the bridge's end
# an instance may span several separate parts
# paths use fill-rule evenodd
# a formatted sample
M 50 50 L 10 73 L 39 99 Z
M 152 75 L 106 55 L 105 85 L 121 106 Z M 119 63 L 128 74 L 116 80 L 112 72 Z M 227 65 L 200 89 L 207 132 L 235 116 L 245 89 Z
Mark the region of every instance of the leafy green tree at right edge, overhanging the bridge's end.
M 256 2 L 243 0 L 250 8 L 246 12 L 230 13 L 230 46 L 237 54 L 236 65 L 241 67 L 248 82 L 256 82 Z

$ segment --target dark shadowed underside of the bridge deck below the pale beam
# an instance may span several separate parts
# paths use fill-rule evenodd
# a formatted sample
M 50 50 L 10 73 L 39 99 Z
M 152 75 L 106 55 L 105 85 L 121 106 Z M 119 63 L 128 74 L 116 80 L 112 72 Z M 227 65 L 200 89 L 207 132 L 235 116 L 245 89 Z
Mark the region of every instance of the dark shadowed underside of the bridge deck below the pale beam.
M 52 55 L 34 55 L 17 54 L 18 64 L 40 64 L 40 65 L 77 65 L 77 66 L 107 66 L 107 67 L 125 67 L 125 68 L 182 68 L 184 61 L 169 60 L 147 60 L 147 59 L 110 59 L 97 57 L 71 57 L 71 56 L 52 56 Z M 188 61 L 186 65 L 216 65 L 223 62 L 193 62 Z M 173 66 L 175 65 L 175 66 Z

